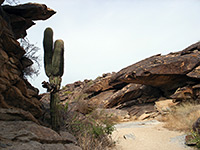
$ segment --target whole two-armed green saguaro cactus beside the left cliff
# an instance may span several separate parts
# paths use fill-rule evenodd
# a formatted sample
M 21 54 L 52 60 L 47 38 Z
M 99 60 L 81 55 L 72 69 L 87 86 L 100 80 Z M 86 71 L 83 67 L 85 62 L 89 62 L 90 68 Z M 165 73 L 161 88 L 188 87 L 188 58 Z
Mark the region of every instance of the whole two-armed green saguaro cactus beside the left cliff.
M 44 68 L 45 73 L 49 77 L 48 82 L 42 82 L 43 87 L 50 92 L 50 115 L 51 126 L 58 131 L 60 128 L 59 115 L 59 94 L 61 77 L 64 73 L 64 42 L 63 40 L 56 40 L 53 45 L 53 30 L 46 28 L 43 39 L 44 47 Z

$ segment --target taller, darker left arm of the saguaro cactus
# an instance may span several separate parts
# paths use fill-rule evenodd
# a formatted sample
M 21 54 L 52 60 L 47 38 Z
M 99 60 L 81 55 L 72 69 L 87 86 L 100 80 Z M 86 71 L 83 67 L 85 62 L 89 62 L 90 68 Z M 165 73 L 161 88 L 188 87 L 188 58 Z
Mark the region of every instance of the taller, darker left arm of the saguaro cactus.
M 44 31 L 43 47 L 45 73 L 50 77 L 53 55 L 53 30 L 51 28 L 46 28 Z

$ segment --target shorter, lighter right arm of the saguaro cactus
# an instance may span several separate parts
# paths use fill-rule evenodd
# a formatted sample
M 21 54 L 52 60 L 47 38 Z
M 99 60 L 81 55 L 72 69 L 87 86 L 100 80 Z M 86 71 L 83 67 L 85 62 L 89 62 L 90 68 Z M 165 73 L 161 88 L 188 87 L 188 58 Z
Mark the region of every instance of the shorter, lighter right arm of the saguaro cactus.
M 52 75 L 62 76 L 64 73 L 64 42 L 56 40 L 52 57 Z

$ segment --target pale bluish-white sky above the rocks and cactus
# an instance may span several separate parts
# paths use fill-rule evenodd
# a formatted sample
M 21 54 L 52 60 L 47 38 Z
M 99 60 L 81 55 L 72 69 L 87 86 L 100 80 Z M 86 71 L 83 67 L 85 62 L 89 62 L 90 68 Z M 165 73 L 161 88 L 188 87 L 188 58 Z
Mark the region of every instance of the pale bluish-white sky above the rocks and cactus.
M 39 47 L 40 75 L 29 81 L 40 90 L 48 81 L 43 66 L 43 32 L 65 42 L 62 86 L 118 72 L 142 59 L 168 54 L 200 40 L 200 0 L 20 0 L 46 4 L 57 13 L 35 21 L 27 38 Z

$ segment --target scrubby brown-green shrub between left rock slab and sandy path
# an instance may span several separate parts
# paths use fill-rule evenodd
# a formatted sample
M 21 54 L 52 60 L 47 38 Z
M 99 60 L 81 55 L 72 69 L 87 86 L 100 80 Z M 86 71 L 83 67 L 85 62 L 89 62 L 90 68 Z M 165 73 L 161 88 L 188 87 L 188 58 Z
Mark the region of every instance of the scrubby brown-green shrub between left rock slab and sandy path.
M 109 117 L 102 121 L 91 114 L 83 116 L 73 112 L 73 117 L 67 117 L 66 128 L 77 138 L 83 150 L 106 150 L 114 146 L 111 139 L 114 124 Z

